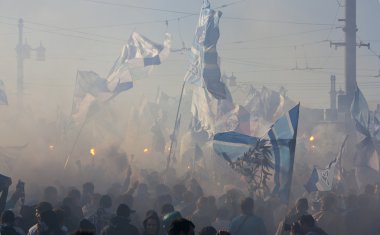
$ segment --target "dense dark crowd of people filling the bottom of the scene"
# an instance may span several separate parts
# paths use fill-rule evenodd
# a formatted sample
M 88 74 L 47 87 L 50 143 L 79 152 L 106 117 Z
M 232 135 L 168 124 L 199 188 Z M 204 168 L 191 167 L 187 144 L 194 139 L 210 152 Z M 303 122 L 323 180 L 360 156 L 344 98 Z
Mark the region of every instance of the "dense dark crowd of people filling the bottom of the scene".
M 344 235 L 380 234 L 380 191 L 318 193 L 294 206 L 238 189 L 206 195 L 194 177 L 127 183 L 125 191 L 99 194 L 96 182 L 75 187 L 46 186 L 35 203 L 19 182 L 1 176 L 1 235 Z M 253 198 L 253 197 L 254 198 Z

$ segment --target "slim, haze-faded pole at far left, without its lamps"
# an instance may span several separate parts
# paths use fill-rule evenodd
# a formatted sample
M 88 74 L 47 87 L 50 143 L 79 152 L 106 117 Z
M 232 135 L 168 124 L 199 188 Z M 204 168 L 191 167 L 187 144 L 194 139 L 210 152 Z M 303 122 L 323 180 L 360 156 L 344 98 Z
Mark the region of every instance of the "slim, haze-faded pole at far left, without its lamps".
M 18 44 L 17 44 L 17 92 L 18 104 L 22 105 L 22 96 L 24 92 L 24 52 L 23 52 L 23 19 L 18 20 Z

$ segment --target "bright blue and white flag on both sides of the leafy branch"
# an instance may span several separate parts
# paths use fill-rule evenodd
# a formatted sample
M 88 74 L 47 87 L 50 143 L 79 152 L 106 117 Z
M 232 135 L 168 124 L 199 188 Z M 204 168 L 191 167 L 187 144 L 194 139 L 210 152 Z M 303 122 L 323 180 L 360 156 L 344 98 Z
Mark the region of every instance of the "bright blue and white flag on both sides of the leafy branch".
M 268 132 L 274 163 L 272 195 L 288 202 L 293 177 L 294 155 L 299 118 L 299 104 L 278 119 Z M 228 161 L 236 161 L 260 138 L 235 132 L 214 136 L 214 151 Z

